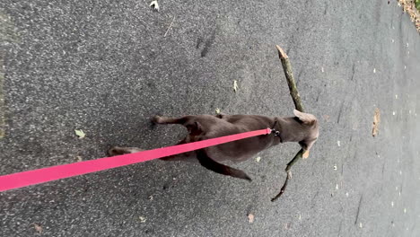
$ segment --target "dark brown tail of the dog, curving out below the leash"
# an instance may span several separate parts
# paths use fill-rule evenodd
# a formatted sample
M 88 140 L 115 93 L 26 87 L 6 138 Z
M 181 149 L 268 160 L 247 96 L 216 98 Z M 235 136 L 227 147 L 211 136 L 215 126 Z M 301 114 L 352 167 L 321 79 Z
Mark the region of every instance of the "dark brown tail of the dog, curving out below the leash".
M 208 157 L 203 149 L 197 151 L 197 159 L 201 165 L 210 171 L 251 181 L 249 176 L 244 171 L 229 167 L 220 162 L 215 162 L 212 158 Z

